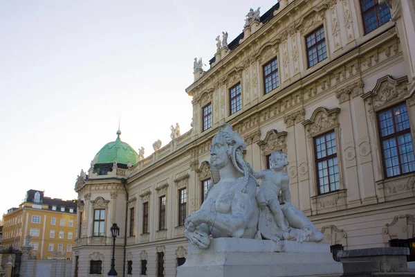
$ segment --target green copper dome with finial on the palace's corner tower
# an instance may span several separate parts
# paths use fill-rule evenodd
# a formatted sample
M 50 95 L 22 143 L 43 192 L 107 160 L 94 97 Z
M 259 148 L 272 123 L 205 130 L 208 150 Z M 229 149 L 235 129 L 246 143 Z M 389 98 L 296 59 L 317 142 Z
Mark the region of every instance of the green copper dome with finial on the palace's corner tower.
M 107 143 L 103 148 L 95 155 L 93 163 L 95 165 L 100 163 L 113 163 L 114 160 L 117 163 L 127 165 L 128 161 L 131 161 L 131 166 L 135 166 L 138 161 L 138 154 L 136 150 L 133 150 L 128 143 L 124 143 L 120 139 L 121 131 L 117 131 L 116 141 Z

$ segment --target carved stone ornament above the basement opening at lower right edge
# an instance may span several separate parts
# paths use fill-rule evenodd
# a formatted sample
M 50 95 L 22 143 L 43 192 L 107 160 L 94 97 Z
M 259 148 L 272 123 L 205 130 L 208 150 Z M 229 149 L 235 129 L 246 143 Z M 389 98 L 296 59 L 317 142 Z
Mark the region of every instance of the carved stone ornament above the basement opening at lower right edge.
M 382 240 L 408 240 L 415 238 L 415 218 L 413 215 L 396 215 L 391 223 L 382 228 Z

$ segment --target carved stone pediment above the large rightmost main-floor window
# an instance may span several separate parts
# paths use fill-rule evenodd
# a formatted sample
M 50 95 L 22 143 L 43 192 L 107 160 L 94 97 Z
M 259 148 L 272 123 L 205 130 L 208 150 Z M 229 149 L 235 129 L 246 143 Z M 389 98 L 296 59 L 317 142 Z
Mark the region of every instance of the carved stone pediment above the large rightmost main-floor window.
M 382 109 L 396 100 L 405 99 L 408 96 L 407 77 L 395 80 L 389 75 L 380 78 L 373 91 L 365 93 L 362 98 L 367 101 L 371 109 Z

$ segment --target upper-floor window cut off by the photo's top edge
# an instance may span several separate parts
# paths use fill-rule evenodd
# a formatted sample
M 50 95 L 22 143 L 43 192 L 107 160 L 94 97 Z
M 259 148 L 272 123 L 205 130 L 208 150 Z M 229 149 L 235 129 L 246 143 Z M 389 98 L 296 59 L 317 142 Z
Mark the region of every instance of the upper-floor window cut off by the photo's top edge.
M 365 34 L 370 33 L 391 19 L 391 12 L 386 1 L 379 5 L 378 0 L 360 0 L 360 7 L 362 8 Z

